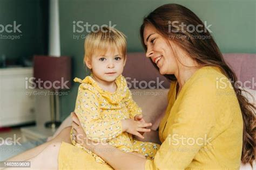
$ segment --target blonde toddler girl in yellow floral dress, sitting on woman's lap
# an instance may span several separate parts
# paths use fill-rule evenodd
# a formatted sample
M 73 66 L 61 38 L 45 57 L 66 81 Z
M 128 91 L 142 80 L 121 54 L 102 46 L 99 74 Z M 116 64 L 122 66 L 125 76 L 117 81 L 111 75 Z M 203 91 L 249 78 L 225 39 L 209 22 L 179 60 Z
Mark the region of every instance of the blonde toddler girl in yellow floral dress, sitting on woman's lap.
M 92 141 L 106 141 L 124 152 L 141 154 L 153 159 L 159 145 L 134 140 L 134 136 L 144 138 L 149 132 L 142 118 L 142 110 L 132 100 L 122 72 L 126 61 L 126 40 L 123 33 L 112 27 L 102 27 L 85 39 L 84 62 L 91 69 L 91 75 L 79 82 L 75 112 Z M 96 162 L 106 162 L 96 154 L 76 143 L 73 129 L 72 144 L 82 147 L 92 154 Z

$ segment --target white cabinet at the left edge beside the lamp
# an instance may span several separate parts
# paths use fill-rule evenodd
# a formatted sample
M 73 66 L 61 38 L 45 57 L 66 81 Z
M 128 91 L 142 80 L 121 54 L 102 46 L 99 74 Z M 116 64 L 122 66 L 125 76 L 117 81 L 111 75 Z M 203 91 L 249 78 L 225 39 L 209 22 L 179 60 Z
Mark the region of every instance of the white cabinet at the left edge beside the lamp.
M 31 67 L 0 68 L 0 127 L 35 121 L 35 96 L 25 86 L 32 76 Z

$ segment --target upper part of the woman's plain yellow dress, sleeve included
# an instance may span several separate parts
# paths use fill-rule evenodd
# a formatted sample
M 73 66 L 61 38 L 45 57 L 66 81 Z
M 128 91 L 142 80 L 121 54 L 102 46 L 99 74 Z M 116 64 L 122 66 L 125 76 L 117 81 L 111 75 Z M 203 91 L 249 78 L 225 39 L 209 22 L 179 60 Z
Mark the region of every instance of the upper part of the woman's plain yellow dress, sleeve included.
M 217 67 L 198 69 L 169 105 L 159 126 L 162 142 L 145 169 L 239 169 L 242 115 L 230 81 Z

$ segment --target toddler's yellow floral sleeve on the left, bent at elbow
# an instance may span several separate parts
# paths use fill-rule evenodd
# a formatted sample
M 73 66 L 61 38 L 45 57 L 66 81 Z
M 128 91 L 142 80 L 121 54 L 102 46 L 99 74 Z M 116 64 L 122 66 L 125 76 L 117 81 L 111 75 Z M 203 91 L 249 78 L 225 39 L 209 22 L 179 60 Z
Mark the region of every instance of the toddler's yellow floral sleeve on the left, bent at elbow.
M 86 136 L 93 141 L 108 141 L 122 134 L 122 123 L 117 120 L 105 121 L 100 117 L 97 91 L 80 84 L 76 100 L 76 115 Z

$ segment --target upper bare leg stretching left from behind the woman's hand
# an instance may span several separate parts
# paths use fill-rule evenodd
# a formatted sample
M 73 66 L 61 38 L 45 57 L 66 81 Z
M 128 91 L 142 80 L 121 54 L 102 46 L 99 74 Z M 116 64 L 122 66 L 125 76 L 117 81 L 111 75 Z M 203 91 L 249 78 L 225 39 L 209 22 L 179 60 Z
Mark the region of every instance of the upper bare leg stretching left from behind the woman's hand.
M 46 147 L 50 146 L 51 144 L 53 143 L 58 143 L 58 142 L 61 142 L 61 141 L 65 141 L 66 143 L 71 143 L 71 140 L 70 140 L 70 130 L 71 130 L 71 126 L 67 127 L 67 128 L 64 128 L 55 138 L 53 138 L 52 140 L 42 144 L 42 145 L 39 145 L 35 148 L 31 148 L 30 150 L 28 151 L 25 151 L 21 154 L 18 154 L 12 158 L 9 158 L 8 160 L 6 161 L 24 161 L 24 160 L 28 160 L 28 159 L 31 159 L 33 157 L 36 157 L 39 153 L 41 153 Z M 53 152 L 50 152 L 51 154 Z M 49 154 L 50 155 L 50 154 Z

